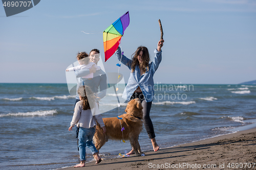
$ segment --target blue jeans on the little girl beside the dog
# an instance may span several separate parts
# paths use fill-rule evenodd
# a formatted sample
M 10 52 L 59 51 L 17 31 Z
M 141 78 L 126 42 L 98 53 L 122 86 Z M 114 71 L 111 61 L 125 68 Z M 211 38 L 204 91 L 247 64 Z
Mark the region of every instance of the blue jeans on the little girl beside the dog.
M 97 153 L 97 149 L 93 144 L 93 136 L 95 133 L 95 128 L 79 128 L 78 134 L 78 148 L 80 161 L 86 160 L 86 147 L 88 147 L 93 154 Z

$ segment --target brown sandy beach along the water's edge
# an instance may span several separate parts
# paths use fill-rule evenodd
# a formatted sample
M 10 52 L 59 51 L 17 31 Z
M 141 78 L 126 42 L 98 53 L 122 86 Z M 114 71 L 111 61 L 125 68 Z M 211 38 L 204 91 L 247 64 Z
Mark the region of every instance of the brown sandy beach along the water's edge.
M 256 169 L 256 128 L 71 169 Z

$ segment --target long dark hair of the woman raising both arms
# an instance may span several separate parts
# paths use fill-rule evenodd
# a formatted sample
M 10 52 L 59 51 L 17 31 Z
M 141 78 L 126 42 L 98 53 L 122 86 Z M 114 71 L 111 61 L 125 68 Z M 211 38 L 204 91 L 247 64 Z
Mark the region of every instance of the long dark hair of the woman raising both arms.
M 140 51 L 143 52 L 141 59 L 143 60 L 142 63 L 139 63 L 138 60 L 138 55 L 140 54 Z M 150 63 L 150 54 L 148 53 L 147 47 L 145 46 L 139 46 L 136 50 L 136 52 L 132 55 L 132 72 L 135 70 L 136 65 L 141 65 L 142 66 L 142 71 L 146 72 L 146 69 L 148 71 L 148 65 Z

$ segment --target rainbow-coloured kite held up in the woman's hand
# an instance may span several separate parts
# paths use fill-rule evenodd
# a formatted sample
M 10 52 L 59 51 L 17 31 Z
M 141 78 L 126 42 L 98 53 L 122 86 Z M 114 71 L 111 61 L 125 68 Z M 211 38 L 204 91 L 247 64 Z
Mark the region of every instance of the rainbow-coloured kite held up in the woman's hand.
M 105 52 L 105 62 L 116 51 L 124 30 L 129 26 L 130 17 L 129 11 L 118 18 L 110 27 L 103 31 L 103 42 Z

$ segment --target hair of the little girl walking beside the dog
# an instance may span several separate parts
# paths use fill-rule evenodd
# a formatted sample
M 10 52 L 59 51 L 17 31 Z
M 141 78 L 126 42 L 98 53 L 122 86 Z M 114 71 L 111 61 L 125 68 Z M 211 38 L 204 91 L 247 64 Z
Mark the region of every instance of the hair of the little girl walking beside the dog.
M 95 96 L 90 87 L 80 86 L 77 90 L 77 93 L 81 97 L 80 104 L 82 105 L 83 110 L 91 109 L 95 104 Z

